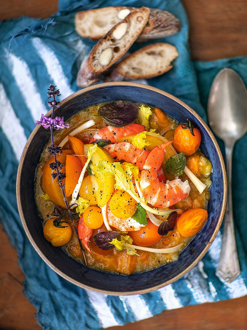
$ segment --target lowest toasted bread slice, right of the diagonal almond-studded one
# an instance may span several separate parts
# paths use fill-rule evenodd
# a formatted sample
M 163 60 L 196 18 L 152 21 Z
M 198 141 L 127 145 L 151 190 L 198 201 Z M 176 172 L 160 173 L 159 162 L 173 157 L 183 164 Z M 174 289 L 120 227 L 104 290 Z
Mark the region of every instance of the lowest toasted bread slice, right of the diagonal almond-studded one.
M 104 82 L 153 78 L 169 71 L 171 62 L 178 57 L 176 47 L 156 43 L 135 51 L 117 64 Z

